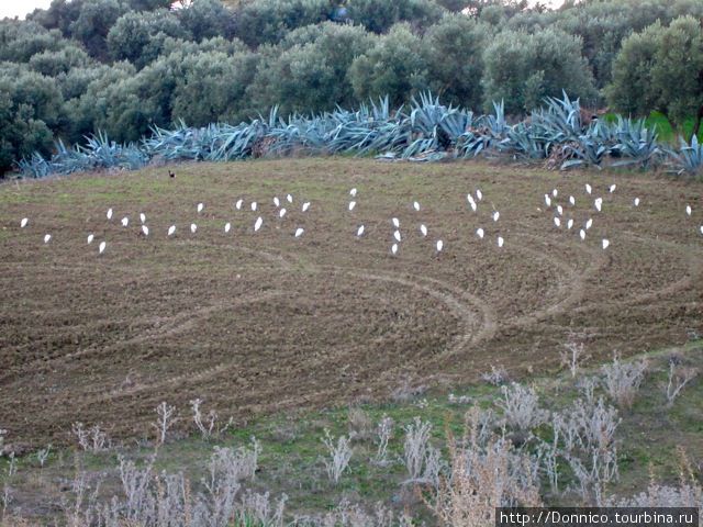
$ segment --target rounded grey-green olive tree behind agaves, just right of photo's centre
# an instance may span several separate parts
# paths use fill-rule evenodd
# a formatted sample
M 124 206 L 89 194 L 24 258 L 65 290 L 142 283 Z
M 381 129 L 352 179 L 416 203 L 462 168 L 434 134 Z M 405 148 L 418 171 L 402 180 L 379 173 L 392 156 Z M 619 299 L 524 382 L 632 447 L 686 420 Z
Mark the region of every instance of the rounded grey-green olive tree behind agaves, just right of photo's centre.
M 408 24 L 394 25 L 376 45 L 357 57 L 349 78 L 358 100 L 388 96 L 391 104 L 406 102 L 428 87 L 423 41 Z

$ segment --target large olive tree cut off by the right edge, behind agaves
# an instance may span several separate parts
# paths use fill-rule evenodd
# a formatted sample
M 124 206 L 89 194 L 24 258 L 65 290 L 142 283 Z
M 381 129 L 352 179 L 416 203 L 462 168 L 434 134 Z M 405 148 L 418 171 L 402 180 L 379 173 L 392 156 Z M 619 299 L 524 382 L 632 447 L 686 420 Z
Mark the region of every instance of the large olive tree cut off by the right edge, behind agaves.
M 613 65 L 607 87 L 618 111 L 647 115 L 652 109 L 674 125 L 703 119 L 703 29 L 699 20 L 681 16 L 665 27 L 652 24 L 629 36 Z

